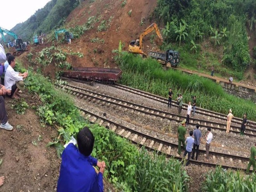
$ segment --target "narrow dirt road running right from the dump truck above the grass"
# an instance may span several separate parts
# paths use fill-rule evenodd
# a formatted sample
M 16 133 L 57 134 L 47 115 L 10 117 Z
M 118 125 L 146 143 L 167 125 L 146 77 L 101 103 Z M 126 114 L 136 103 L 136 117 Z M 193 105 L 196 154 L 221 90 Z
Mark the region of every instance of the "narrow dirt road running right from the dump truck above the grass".
M 227 79 L 224 79 L 224 78 L 220 78 L 220 77 L 217 77 L 217 76 L 211 76 L 209 72 L 209 74 L 205 74 L 205 73 L 199 73 L 197 71 L 191 71 L 189 69 L 183 69 L 183 68 L 180 68 L 180 67 L 177 67 L 176 69 L 180 70 L 180 71 L 185 71 L 185 72 L 188 72 L 188 73 L 193 73 L 193 74 L 197 74 L 199 76 L 203 76 L 203 77 L 206 77 L 206 78 L 209 78 L 209 79 L 214 79 L 216 80 L 216 83 L 219 83 L 220 81 L 224 81 L 224 82 L 227 82 L 229 83 L 229 81 Z M 213 74 L 214 75 L 214 74 Z M 228 77 L 229 78 L 229 77 Z M 247 88 L 251 88 L 251 89 L 254 89 L 256 90 L 256 87 L 255 86 L 251 86 L 251 85 L 246 85 L 246 84 L 243 84 L 243 83 L 239 83 L 239 82 L 234 82 L 233 81 L 233 84 L 236 85 L 236 86 L 244 86 L 244 87 L 247 87 Z

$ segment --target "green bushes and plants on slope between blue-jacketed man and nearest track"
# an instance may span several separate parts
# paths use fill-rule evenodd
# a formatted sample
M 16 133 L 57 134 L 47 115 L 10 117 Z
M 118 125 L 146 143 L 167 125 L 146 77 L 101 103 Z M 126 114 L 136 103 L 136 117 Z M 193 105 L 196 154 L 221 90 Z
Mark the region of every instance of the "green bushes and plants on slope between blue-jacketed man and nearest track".
M 189 176 L 181 163 L 165 156 L 150 154 L 145 149 L 138 150 L 126 139 L 116 136 L 112 131 L 99 125 L 90 125 L 80 116 L 70 95 L 55 90 L 47 78 L 40 74 L 30 74 L 26 79 L 29 92 L 38 94 L 40 105 L 34 108 L 43 123 L 58 125 L 61 138 L 54 145 L 60 155 L 63 145 L 71 135 L 89 126 L 95 137 L 92 156 L 106 162 L 104 173 L 116 187 L 124 191 L 187 191 Z

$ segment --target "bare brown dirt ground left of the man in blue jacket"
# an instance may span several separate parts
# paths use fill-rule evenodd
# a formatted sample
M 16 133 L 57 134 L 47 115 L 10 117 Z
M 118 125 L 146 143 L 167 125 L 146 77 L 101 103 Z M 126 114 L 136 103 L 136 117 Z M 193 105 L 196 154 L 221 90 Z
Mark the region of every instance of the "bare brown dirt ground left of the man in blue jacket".
M 10 109 L 12 102 L 9 98 L 5 99 L 9 123 L 14 130 L 0 130 L 0 158 L 3 159 L 0 176 L 5 176 L 0 191 L 54 191 L 61 161 L 55 149 L 45 148 L 45 145 L 57 137 L 57 130 L 42 127 L 31 109 L 27 109 L 24 115 L 17 114 Z M 39 135 L 42 136 L 40 141 Z

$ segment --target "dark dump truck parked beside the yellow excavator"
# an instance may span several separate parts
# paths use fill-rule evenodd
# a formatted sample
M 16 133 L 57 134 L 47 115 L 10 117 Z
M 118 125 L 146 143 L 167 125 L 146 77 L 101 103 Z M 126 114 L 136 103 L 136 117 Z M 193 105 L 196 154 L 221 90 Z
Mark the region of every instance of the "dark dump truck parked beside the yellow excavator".
M 166 67 L 176 67 L 180 63 L 180 54 L 175 50 L 167 50 L 165 53 L 150 51 L 148 56 Z

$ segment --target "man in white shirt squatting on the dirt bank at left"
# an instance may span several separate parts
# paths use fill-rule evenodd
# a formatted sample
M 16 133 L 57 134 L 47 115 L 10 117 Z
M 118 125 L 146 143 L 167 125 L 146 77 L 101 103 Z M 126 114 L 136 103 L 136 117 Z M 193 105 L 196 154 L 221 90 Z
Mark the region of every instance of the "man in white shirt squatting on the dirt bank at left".
M 10 55 L 8 58 L 9 67 L 5 72 L 4 84 L 6 89 L 11 90 L 10 97 L 12 99 L 19 99 L 17 93 L 19 90 L 24 90 L 23 79 L 28 76 L 28 72 L 19 73 L 14 71 L 14 67 L 16 65 L 15 57 Z M 23 85 L 23 86 L 22 86 Z

